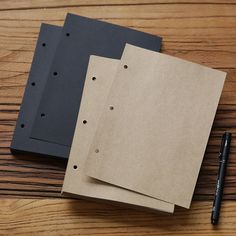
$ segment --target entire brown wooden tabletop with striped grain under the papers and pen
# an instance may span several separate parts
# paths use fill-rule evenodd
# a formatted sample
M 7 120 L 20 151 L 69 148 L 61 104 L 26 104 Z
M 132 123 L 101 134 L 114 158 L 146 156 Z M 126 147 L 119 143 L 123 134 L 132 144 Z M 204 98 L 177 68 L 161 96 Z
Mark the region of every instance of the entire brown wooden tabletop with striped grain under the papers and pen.
M 66 163 L 12 156 L 9 145 L 42 22 L 63 25 L 67 12 L 163 37 L 163 52 L 228 72 L 190 210 L 147 213 L 63 199 Z M 0 235 L 236 235 L 236 139 L 220 224 L 210 224 L 224 130 L 236 135 L 236 1 L 0 1 Z

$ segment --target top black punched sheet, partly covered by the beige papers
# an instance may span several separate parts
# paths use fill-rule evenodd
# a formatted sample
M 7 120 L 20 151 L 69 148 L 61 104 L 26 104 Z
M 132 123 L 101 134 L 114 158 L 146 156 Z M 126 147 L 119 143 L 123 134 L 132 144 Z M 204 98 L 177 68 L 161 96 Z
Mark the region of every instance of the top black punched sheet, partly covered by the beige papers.
M 80 107 L 89 56 L 98 55 L 120 59 L 126 43 L 160 51 L 161 38 L 114 24 L 68 14 L 31 137 L 59 144 L 69 150 Z M 55 155 L 55 152 L 48 154 Z

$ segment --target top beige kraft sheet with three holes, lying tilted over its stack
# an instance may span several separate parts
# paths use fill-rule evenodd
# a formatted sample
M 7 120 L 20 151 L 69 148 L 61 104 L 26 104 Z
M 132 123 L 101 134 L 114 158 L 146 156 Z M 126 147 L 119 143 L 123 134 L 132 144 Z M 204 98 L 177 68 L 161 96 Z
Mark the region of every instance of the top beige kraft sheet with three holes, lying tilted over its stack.
M 126 45 L 87 174 L 189 208 L 225 76 Z

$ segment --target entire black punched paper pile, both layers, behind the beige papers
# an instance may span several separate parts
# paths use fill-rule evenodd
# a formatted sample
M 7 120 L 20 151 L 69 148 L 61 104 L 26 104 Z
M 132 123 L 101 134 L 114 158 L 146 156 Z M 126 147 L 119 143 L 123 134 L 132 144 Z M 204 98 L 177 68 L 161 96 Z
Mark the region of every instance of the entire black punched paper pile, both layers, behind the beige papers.
M 120 59 L 127 42 L 161 48 L 160 37 L 74 14 L 62 28 L 43 24 L 11 150 L 67 159 L 89 56 Z

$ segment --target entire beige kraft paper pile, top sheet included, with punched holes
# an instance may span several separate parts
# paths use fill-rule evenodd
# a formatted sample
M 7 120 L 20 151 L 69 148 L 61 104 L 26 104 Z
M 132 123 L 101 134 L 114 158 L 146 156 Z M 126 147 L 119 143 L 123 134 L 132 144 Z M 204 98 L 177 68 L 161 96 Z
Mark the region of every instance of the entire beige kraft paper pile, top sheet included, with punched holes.
M 225 75 L 129 44 L 91 56 L 63 192 L 189 208 Z

